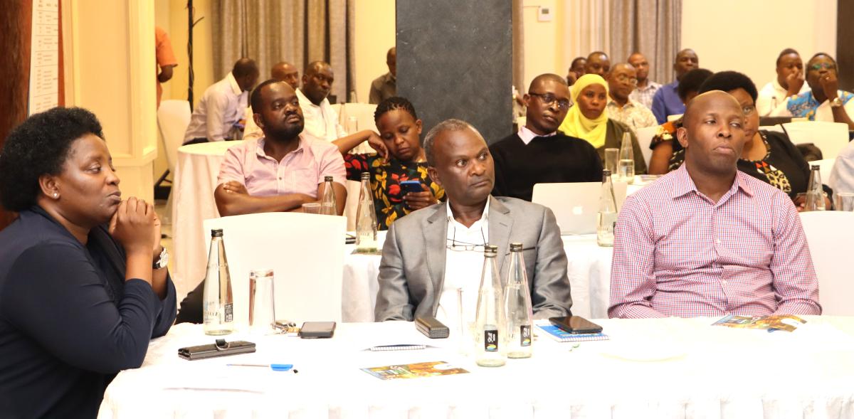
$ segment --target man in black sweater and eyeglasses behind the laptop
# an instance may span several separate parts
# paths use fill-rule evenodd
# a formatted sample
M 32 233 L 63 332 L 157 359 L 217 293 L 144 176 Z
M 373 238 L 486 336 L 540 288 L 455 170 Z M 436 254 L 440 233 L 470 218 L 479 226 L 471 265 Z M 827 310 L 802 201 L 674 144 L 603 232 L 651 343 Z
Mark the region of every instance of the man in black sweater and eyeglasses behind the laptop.
M 558 127 L 570 108 L 570 90 L 557 74 L 541 74 L 523 96 L 525 125 L 492 144 L 495 196 L 530 201 L 535 183 L 600 182 L 602 162 L 590 143 Z

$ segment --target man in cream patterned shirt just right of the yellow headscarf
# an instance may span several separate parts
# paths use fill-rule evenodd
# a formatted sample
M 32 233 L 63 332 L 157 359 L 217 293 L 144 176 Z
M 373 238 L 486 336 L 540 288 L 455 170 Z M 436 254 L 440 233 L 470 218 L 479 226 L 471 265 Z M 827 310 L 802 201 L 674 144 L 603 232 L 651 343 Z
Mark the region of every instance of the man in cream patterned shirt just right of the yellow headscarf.
M 637 135 L 639 128 L 658 125 L 655 115 L 642 103 L 632 100 L 632 90 L 638 83 L 637 72 L 631 64 L 620 62 L 611 67 L 611 72 L 605 75 L 608 81 L 608 118 L 616 119 L 625 125 L 629 125 Z

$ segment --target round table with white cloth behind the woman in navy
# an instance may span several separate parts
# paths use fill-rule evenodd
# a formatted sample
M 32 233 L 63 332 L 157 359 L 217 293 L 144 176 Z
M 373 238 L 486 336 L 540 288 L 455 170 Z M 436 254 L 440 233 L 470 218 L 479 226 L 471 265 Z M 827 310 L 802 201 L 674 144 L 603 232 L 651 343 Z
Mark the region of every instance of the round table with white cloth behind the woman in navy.
M 219 165 L 228 148 L 240 141 L 190 144 L 178 148 L 178 165 L 173 181 L 172 207 L 173 271 L 170 272 L 178 301 L 183 300 L 205 277 L 208 241 L 202 223 L 219 218 L 213 189 L 217 187 Z

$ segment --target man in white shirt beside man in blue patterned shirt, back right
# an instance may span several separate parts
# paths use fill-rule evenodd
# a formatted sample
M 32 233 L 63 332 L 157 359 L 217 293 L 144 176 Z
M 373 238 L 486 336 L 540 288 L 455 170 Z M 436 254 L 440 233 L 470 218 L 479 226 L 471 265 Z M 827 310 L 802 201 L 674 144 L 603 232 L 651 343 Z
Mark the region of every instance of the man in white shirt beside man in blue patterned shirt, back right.
M 777 78 L 759 90 L 756 99 L 759 116 L 769 116 L 773 110 L 786 102 L 788 97 L 810 90 L 804 80 L 804 61 L 798 51 L 783 49 L 780 55 L 777 55 Z

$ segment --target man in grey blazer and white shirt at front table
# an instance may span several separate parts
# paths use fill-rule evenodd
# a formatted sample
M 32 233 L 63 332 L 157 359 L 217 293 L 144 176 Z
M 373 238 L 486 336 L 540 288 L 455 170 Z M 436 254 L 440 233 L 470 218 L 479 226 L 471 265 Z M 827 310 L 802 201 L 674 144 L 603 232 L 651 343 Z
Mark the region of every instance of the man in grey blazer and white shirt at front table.
M 552 211 L 490 195 L 492 156 L 480 133 L 464 121 L 447 119 L 436 125 L 424 139 L 424 151 L 430 177 L 445 189 L 447 203 L 412 212 L 389 228 L 379 267 L 376 320 L 434 316 L 459 321 L 449 317 L 459 317 L 454 291 L 463 288 L 464 316 L 473 321 L 483 245 L 498 246 L 503 282 L 511 242 L 521 242 L 525 249 L 534 317 L 570 315 L 566 254 Z

